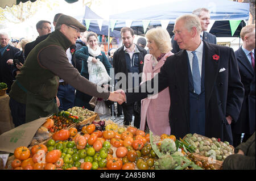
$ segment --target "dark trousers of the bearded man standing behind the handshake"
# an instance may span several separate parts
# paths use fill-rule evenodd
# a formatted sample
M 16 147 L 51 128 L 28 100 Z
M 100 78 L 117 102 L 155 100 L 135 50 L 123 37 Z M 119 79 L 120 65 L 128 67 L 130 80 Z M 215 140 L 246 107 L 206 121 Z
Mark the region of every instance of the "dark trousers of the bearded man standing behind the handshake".
M 122 104 L 123 107 L 123 116 L 125 119 L 123 120 L 124 125 L 130 125 L 134 115 L 134 127 L 139 128 L 141 125 L 141 113 L 137 113 L 134 111 L 134 103 L 133 104 Z

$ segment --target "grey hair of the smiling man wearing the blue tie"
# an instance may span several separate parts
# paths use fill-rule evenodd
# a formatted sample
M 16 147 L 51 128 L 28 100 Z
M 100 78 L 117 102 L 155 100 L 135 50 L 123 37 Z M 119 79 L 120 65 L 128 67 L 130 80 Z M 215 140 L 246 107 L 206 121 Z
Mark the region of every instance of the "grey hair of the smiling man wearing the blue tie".
M 200 19 L 198 16 L 194 14 L 185 14 L 182 16 L 179 16 L 179 18 L 176 19 L 176 22 L 183 20 L 185 28 L 187 28 L 188 31 L 191 31 L 193 27 L 196 27 L 197 33 L 200 34 L 202 31 Z

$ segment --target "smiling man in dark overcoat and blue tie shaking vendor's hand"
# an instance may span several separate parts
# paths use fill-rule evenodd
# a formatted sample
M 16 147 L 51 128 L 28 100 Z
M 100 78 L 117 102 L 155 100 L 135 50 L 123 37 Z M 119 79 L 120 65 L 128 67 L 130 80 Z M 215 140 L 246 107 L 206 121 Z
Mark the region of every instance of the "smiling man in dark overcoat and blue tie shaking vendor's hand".
M 157 77 L 136 87 L 139 93 L 128 90 L 126 100 L 130 103 L 155 92 L 148 87 L 158 92 L 169 87 L 171 134 L 183 138 L 199 133 L 232 144 L 230 124 L 237 121 L 243 100 L 236 57 L 232 48 L 201 40 L 200 32 L 196 15 L 177 18 L 174 33 L 181 51 L 167 58 Z

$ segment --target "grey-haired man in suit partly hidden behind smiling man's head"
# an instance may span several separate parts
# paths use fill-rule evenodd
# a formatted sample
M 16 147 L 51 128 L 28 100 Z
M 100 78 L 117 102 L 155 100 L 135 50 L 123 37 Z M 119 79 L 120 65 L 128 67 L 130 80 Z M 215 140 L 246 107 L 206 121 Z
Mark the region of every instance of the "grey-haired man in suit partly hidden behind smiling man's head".
M 207 32 L 208 25 L 210 24 L 210 13 L 208 9 L 199 8 L 192 12 L 199 17 L 202 31 L 200 33 L 201 40 L 207 41 L 208 43 L 217 44 L 216 36 Z M 180 51 L 179 45 L 174 40 L 174 36 L 171 39 L 172 43 L 172 53 L 177 53 Z

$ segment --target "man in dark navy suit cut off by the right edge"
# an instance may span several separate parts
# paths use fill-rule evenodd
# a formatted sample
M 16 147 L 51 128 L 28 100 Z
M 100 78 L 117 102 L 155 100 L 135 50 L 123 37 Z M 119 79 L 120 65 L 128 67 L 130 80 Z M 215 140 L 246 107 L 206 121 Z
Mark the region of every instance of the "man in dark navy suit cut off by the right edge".
M 232 123 L 234 147 L 245 142 L 255 132 L 255 24 L 243 27 L 240 33 L 243 45 L 235 52 L 241 81 L 245 88 L 240 116 Z

